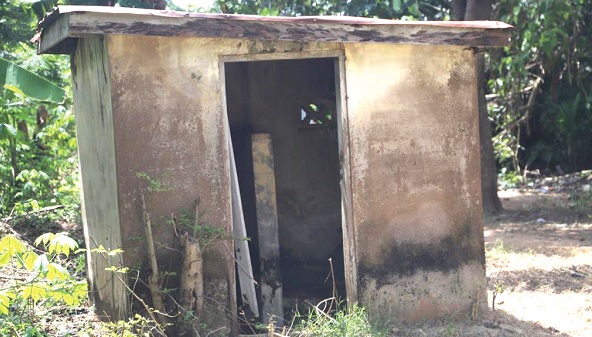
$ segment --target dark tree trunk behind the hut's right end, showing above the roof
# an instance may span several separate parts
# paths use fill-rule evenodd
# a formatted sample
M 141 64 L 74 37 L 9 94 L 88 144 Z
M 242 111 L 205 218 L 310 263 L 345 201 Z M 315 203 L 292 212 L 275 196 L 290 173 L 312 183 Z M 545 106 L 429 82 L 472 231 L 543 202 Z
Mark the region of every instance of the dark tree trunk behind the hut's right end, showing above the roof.
M 492 0 L 453 0 L 453 18 L 460 21 L 489 20 Z M 481 143 L 481 193 L 483 211 L 486 214 L 499 213 L 502 203 L 497 195 L 497 167 L 492 133 L 485 101 L 485 62 L 482 54 L 477 54 L 477 83 L 479 86 L 479 140 Z

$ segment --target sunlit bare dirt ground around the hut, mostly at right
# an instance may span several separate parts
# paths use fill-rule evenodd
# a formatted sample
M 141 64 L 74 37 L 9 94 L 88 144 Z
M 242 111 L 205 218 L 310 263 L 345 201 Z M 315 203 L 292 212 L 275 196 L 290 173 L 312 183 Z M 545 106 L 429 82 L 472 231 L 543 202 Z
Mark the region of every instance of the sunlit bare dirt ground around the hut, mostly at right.
M 504 211 L 484 221 L 487 312 L 476 321 L 399 326 L 391 336 L 592 336 L 591 185 L 588 171 L 531 179 L 527 187 L 501 191 Z M 81 239 L 80 226 L 71 224 L 58 222 L 54 225 L 61 228 L 43 231 L 69 230 Z M 11 227 L 0 228 L 0 234 L 15 229 L 25 238 L 41 234 L 26 223 Z M 53 326 L 71 333 L 56 335 L 79 335 L 81 329 L 101 335 L 88 308 L 56 315 Z

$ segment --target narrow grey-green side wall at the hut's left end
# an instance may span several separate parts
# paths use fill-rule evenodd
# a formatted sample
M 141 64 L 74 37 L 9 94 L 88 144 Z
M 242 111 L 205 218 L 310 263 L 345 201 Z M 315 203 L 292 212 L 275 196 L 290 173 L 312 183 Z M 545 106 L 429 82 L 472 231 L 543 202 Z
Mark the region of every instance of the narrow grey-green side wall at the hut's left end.
M 105 268 L 121 265 L 121 256 L 90 250 L 122 246 L 117 195 L 113 110 L 109 62 L 103 39 L 79 41 L 72 59 L 76 137 L 82 175 L 82 221 L 87 248 L 87 278 L 100 315 L 122 319 L 129 304 L 122 282 Z M 125 278 L 125 276 L 122 276 Z

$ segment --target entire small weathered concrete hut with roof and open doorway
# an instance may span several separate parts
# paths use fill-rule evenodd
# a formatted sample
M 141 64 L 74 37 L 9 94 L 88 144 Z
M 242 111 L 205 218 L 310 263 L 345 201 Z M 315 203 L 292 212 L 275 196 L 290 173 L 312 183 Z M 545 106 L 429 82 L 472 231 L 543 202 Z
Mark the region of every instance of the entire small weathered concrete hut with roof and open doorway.
M 88 254 L 99 313 L 132 310 L 105 268 L 147 265 L 138 173 L 170 187 L 162 270 L 196 199 L 235 236 L 204 256 L 212 329 L 335 290 L 398 321 L 485 307 L 475 55 L 510 26 L 60 6 L 40 28 L 40 53 L 72 55 L 87 248 L 124 250 Z

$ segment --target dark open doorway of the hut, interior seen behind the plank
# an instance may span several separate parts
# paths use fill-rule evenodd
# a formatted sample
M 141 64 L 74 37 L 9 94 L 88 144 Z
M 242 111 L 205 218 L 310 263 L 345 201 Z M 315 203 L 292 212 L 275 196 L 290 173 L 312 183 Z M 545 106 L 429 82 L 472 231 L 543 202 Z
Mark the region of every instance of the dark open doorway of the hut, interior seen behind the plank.
M 335 290 L 341 297 L 346 295 L 338 62 L 329 57 L 223 63 L 236 171 L 258 282 L 261 256 L 251 137 L 267 134 L 273 145 L 286 313 L 305 300 L 315 303 L 329 298 Z

